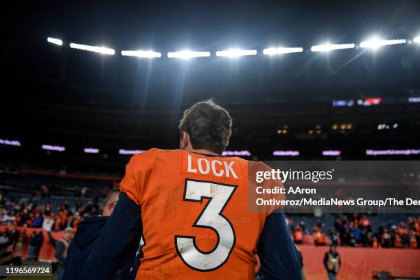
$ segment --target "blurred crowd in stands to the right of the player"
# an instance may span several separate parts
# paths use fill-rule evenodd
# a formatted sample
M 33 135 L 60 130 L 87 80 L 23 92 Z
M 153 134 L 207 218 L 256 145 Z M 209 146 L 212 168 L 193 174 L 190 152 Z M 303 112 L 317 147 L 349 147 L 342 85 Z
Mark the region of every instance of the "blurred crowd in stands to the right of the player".
M 310 233 L 305 222 L 290 224 L 296 244 L 302 244 L 305 234 Z M 316 246 L 334 245 L 371 248 L 419 248 L 420 216 L 408 217 L 405 222 L 373 228 L 369 215 L 352 213 L 339 215 L 331 229 L 324 229 L 318 222 L 312 229 L 312 239 Z

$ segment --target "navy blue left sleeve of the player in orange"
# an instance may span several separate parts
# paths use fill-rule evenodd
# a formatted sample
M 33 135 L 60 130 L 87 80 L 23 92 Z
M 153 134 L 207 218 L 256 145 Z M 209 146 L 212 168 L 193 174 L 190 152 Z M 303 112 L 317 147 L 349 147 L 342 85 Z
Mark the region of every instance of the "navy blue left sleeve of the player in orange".
M 83 266 L 82 279 L 130 279 L 142 232 L 141 207 L 126 194 L 119 194 L 113 215 Z

